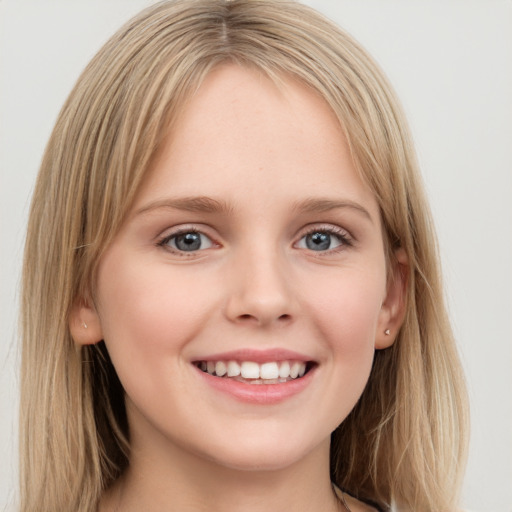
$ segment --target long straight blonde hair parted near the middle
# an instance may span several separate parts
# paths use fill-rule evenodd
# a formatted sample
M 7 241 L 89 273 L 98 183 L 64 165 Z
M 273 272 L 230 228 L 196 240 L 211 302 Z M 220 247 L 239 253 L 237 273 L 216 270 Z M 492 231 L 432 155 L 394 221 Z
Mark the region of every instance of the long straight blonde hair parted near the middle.
M 464 379 L 416 157 L 384 74 L 350 36 L 286 0 L 162 2 L 86 67 L 44 153 L 22 291 L 22 512 L 95 510 L 129 462 L 124 392 L 103 342 L 79 347 L 76 304 L 187 98 L 232 62 L 293 77 L 337 115 L 380 206 L 388 259 L 408 257 L 406 315 L 332 433 L 331 478 L 383 509 L 455 510 L 466 459 Z

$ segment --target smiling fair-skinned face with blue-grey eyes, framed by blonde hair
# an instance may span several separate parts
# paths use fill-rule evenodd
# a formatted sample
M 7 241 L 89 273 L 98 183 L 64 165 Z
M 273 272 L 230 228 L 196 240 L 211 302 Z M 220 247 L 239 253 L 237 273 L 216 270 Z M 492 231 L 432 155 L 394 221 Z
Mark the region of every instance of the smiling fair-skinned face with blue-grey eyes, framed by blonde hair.
M 223 66 L 173 126 L 75 340 L 105 340 L 140 449 L 285 467 L 328 446 L 391 344 L 387 282 L 377 202 L 324 101 Z

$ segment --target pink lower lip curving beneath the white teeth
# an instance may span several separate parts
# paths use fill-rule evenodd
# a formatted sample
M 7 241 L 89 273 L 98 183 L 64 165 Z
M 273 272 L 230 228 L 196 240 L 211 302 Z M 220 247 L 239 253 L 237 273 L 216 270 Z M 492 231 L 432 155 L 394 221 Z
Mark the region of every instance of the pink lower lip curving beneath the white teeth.
M 226 377 L 214 377 L 199 368 L 196 369 L 209 386 L 231 395 L 236 400 L 269 405 L 284 402 L 303 391 L 310 384 L 316 367 L 309 370 L 303 377 L 279 384 L 246 384 Z

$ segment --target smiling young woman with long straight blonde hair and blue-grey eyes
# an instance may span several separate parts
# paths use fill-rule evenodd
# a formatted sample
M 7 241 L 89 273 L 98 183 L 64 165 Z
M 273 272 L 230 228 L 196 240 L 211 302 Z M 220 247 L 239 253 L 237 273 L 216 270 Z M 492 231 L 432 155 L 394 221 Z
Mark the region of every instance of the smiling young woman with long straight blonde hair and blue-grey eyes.
M 435 247 L 405 120 L 349 36 L 287 1 L 142 12 L 34 192 L 21 510 L 456 510 Z

